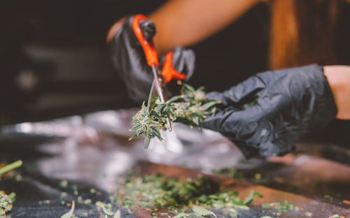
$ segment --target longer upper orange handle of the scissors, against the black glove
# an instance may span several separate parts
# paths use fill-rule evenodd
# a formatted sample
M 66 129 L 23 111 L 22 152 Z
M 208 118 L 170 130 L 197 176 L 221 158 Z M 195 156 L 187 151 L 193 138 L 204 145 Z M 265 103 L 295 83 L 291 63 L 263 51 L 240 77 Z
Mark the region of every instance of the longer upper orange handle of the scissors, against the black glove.
M 132 29 L 134 30 L 134 34 L 139 40 L 142 46 L 142 49 L 145 52 L 148 66 L 153 66 L 153 65 L 158 66 L 159 65 L 158 54 L 157 54 L 157 51 L 155 50 L 153 39 L 152 39 L 153 45 L 151 45 L 150 43 L 148 43 L 148 41 L 146 41 L 146 38 L 144 37 L 144 34 L 142 34 L 142 31 L 140 28 L 140 24 L 139 24 L 140 20 L 147 20 L 147 17 L 141 14 L 135 15 L 134 19 L 132 20 Z

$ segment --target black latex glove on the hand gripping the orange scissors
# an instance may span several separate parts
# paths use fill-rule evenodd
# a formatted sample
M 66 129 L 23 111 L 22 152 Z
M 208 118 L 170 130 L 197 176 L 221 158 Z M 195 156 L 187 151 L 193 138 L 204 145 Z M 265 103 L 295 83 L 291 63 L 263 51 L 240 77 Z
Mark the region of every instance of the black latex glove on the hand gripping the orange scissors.
M 111 59 L 118 73 L 127 85 L 130 97 L 137 102 L 148 99 L 153 81 L 153 73 L 147 65 L 144 50 L 132 30 L 134 15 L 127 17 L 122 27 L 109 42 Z M 155 24 L 151 20 L 141 20 L 140 28 L 147 41 L 155 35 Z M 160 58 L 160 70 L 162 58 Z M 195 53 L 193 50 L 176 47 L 173 55 L 173 67 L 179 73 L 186 74 L 186 80 L 193 74 Z

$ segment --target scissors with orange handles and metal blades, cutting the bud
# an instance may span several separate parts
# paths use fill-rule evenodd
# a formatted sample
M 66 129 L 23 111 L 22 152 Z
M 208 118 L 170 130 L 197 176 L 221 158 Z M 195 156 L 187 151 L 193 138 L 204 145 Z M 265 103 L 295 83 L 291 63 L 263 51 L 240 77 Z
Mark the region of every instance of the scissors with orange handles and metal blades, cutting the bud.
M 165 91 L 165 85 L 167 82 L 170 82 L 173 78 L 178 80 L 183 80 L 186 78 L 186 74 L 177 72 L 172 64 L 172 57 L 174 52 L 167 52 L 165 54 L 165 61 L 162 67 L 162 71 L 159 69 L 158 54 L 155 50 L 154 40 L 152 38 L 151 42 L 147 41 L 142 34 L 139 22 L 141 20 L 148 20 L 144 15 L 138 14 L 134 16 L 132 20 L 132 29 L 134 31 L 137 40 L 141 44 L 142 49 L 144 50 L 146 61 L 148 66 L 152 68 L 153 72 L 153 82 L 151 87 L 151 92 L 148 96 L 148 108 L 153 106 L 155 100 L 158 98 L 162 103 L 165 103 L 167 98 L 167 92 Z M 172 122 L 170 120 L 170 115 L 167 117 L 167 129 L 172 131 Z

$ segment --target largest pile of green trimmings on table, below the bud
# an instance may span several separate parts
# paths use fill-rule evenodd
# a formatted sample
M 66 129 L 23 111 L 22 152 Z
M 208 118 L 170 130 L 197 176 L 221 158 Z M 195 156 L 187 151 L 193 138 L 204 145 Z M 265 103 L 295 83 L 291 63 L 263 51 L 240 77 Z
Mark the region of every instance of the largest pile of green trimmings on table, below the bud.
M 165 208 L 177 212 L 176 216 L 188 215 L 193 205 L 206 209 L 221 209 L 231 217 L 238 210 L 249 210 L 248 205 L 260 192 L 251 191 L 243 201 L 238 191 L 220 190 L 218 183 L 209 177 L 199 176 L 181 181 L 162 175 L 132 176 L 119 189 L 115 202 L 125 208 L 141 207 L 157 215 L 154 208 Z M 181 214 L 181 212 L 183 214 Z

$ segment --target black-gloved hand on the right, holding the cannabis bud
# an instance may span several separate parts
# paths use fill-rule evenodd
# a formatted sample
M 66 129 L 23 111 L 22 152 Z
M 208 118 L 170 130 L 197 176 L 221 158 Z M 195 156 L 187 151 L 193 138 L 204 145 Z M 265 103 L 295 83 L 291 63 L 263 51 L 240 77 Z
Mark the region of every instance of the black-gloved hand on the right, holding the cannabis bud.
M 337 114 L 328 81 L 316 64 L 258 73 L 207 98 L 222 104 L 204 119 L 204 128 L 228 137 L 246 157 L 286 154 L 305 133 Z

